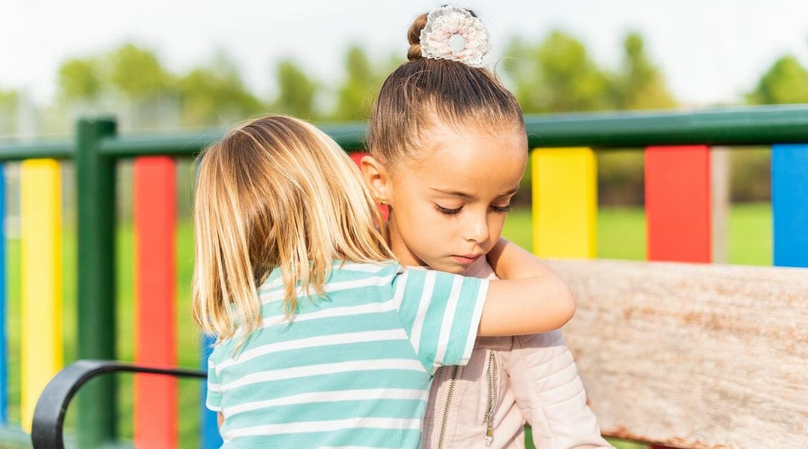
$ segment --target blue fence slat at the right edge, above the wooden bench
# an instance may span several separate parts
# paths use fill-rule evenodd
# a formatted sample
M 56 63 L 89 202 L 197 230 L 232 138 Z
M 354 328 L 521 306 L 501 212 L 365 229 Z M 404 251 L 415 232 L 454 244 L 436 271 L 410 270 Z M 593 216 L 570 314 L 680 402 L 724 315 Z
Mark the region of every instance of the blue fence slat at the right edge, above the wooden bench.
M 774 265 L 808 267 L 808 145 L 772 145 Z

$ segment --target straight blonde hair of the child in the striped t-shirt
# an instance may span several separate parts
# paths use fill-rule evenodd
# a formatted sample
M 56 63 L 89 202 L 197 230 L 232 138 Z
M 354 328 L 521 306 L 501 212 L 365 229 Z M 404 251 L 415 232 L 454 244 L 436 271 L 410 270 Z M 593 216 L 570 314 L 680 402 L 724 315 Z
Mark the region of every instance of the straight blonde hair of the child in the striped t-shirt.
M 287 317 L 298 288 L 324 294 L 332 260 L 392 259 L 356 165 L 302 120 L 271 115 L 200 154 L 194 320 L 217 342 L 261 325 L 257 288 L 280 269 Z

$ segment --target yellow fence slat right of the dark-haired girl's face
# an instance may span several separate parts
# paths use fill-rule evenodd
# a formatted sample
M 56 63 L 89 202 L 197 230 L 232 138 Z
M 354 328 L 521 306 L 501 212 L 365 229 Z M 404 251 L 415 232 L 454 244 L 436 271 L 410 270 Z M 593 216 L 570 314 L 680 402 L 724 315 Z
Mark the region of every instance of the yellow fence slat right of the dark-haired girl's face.
M 531 153 L 533 252 L 541 258 L 594 258 L 597 166 L 588 148 Z

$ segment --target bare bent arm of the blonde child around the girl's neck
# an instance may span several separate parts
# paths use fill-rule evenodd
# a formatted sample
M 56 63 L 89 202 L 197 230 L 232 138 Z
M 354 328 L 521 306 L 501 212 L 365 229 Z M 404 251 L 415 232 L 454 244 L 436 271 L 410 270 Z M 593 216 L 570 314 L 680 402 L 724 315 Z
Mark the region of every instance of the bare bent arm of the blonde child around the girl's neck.
M 566 283 L 539 258 L 500 238 L 488 254 L 501 279 L 490 281 L 478 334 L 539 334 L 558 329 L 575 313 Z

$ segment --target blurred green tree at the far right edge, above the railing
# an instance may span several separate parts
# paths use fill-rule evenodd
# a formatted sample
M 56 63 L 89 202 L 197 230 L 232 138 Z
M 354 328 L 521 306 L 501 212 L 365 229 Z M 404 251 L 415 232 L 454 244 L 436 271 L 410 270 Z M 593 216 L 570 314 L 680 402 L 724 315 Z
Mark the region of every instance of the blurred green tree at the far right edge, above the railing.
M 793 55 L 780 57 L 747 94 L 747 103 L 808 103 L 808 71 Z

